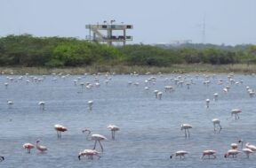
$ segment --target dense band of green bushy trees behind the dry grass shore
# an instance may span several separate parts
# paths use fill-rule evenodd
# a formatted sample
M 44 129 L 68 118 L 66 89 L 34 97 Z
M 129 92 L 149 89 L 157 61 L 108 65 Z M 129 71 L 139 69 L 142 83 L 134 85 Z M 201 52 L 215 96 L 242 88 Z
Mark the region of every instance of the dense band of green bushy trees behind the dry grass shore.
M 63 37 L 34 37 L 30 34 L 0 38 L 0 65 L 82 66 L 82 65 L 154 65 L 256 63 L 256 46 L 163 48 L 150 45 L 107 45 Z

